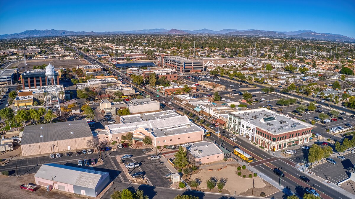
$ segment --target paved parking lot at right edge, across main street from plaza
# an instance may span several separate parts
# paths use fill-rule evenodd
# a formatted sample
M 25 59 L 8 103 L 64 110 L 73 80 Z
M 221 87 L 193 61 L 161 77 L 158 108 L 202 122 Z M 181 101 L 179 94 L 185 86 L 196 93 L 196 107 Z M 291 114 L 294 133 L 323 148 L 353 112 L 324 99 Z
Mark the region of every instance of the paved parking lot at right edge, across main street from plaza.
M 323 178 L 324 180 L 326 180 L 326 176 L 329 175 L 329 181 L 333 183 L 342 181 L 350 176 L 355 163 L 354 153 L 348 153 L 343 156 L 346 158 L 345 160 L 340 160 L 337 157 L 332 158 L 337 162 L 336 165 L 325 162 L 314 166 L 311 171 L 315 172 L 317 176 Z

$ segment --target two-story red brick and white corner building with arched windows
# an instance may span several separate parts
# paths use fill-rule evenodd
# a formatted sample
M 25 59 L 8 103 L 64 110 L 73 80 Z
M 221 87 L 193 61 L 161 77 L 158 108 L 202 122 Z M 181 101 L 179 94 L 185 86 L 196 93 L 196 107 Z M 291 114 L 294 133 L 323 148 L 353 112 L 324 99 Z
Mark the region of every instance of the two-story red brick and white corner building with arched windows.
M 227 127 L 269 150 L 307 143 L 313 131 L 313 125 L 266 108 L 229 113 Z

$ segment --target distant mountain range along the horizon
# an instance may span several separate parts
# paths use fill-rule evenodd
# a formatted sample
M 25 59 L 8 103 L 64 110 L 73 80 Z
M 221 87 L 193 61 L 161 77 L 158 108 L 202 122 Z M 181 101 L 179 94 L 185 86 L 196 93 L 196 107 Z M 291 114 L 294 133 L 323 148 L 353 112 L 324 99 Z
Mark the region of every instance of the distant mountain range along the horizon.
M 236 29 L 223 29 L 223 30 L 166 30 L 164 28 L 144 29 L 144 30 L 126 30 L 114 32 L 74 32 L 68 30 L 26 30 L 22 33 L 0 35 L 0 39 L 24 38 L 24 37 L 39 37 L 39 36 L 72 36 L 72 35 L 103 35 L 103 34 L 226 34 L 226 35 L 250 35 L 250 36 L 278 36 L 288 38 L 303 38 L 303 39 L 318 39 L 318 40 L 337 40 L 355 42 L 354 38 L 344 35 L 331 34 L 331 33 L 316 33 L 312 30 L 297 30 L 297 31 L 270 31 L 270 30 L 236 30 Z

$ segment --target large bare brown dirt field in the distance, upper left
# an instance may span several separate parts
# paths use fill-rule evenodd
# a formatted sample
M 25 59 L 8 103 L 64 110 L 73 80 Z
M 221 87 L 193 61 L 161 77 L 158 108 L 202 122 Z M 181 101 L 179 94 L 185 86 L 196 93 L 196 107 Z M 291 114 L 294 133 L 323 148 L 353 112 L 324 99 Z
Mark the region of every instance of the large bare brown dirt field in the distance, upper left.
M 57 59 L 57 58 L 50 58 L 50 59 L 33 59 L 33 60 L 26 60 L 27 70 L 33 69 L 33 66 L 39 66 L 42 64 L 52 64 L 55 68 L 73 68 L 78 65 L 86 65 L 88 64 L 87 61 L 83 59 Z M 24 67 L 24 63 L 21 62 L 18 65 L 18 68 Z M 20 72 L 24 72 L 24 68 L 20 69 Z

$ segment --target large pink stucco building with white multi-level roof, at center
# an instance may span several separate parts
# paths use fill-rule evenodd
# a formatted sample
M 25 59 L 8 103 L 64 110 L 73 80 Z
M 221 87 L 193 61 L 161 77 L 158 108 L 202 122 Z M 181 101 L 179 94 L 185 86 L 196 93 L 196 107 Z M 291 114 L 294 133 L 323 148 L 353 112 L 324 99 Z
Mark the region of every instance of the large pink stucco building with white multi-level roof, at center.
M 192 123 L 186 115 L 181 116 L 171 110 L 121 116 L 120 122 L 106 125 L 104 133 L 97 135 L 99 140 L 119 142 L 122 135 L 131 132 L 133 143 L 143 141 L 145 136 L 149 136 L 155 147 L 201 141 L 204 135 L 204 130 Z

